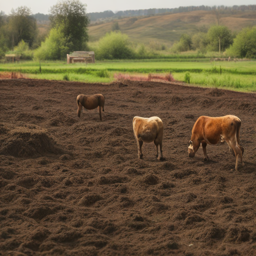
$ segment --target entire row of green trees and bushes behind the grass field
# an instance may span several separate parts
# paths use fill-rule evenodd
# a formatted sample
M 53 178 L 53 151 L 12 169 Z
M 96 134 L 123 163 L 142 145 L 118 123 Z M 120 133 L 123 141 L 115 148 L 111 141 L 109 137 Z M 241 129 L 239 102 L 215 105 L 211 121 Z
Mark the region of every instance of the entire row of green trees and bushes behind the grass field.
M 97 59 L 152 58 L 161 57 L 157 51 L 166 51 L 164 45 L 153 45 L 151 42 L 151 49 L 142 43 L 131 43 L 128 36 L 121 33 L 116 20 L 112 23 L 112 32 L 89 47 L 89 18 L 86 5 L 79 0 L 58 1 L 50 8 L 49 20 L 50 30 L 43 36 L 38 32 L 30 8 L 20 6 L 10 15 L 0 12 L 0 57 L 7 52 L 15 53 L 22 59 L 56 60 L 75 50 L 93 50 Z M 201 27 L 193 35 L 182 34 L 169 51 L 197 50 L 201 54 L 226 51 L 231 56 L 256 58 L 255 45 L 256 26 L 244 28 L 236 34 L 226 26 L 213 25 L 209 29 Z

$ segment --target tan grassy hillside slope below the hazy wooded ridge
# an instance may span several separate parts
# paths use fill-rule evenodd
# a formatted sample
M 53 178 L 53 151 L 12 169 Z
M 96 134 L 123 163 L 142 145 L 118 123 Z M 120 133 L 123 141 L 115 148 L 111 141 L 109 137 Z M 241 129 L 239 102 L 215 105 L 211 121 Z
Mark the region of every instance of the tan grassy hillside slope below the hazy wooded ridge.
M 213 11 L 196 10 L 154 16 L 138 16 L 118 19 L 120 30 L 134 42 L 149 43 L 150 40 L 172 44 L 182 33 L 193 34 L 200 27 L 217 23 Z M 95 41 L 111 31 L 114 21 L 88 27 L 89 40 Z M 232 31 L 245 26 L 256 25 L 256 11 L 240 11 L 235 14 L 220 14 L 219 24 L 228 26 Z

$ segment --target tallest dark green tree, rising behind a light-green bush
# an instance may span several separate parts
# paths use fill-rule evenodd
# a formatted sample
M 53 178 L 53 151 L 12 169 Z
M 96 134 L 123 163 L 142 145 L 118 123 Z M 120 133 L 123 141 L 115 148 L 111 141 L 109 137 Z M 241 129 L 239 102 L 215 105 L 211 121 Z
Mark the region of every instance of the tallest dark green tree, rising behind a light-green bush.
M 50 8 L 51 26 L 61 26 L 64 36 L 72 43 L 70 50 L 82 50 L 84 41 L 88 40 L 86 4 L 79 0 L 62 0 Z

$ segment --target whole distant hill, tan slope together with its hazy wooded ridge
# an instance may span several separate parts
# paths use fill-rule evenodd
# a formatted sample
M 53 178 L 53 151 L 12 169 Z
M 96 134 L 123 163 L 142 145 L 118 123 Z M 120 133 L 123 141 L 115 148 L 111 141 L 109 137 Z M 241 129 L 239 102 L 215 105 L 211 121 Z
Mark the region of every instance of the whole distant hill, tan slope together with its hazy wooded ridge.
M 178 8 L 111 10 L 87 13 L 90 18 L 89 40 L 96 41 L 111 31 L 117 21 L 120 30 L 134 42 L 164 43 L 170 46 L 182 33 L 207 30 L 212 24 L 222 24 L 232 31 L 256 25 L 256 4 L 227 6 L 186 6 Z M 41 33 L 49 30 L 49 15 L 33 14 Z

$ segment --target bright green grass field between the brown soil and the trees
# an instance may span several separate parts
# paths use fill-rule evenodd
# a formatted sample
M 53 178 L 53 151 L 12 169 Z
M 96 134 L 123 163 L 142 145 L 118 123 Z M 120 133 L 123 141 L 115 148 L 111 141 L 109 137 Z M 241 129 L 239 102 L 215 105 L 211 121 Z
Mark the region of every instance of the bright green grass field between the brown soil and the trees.
M 184 81 L 189 72 L 190 84 L 256 92 L 256 61 L 168 61 L 116 60 L 66 64 L 64 61 L 0 63 L 0 72 L 20 72 L 28 78 L 71 80 L 83 82 L 111 82 L 115 73 L 169 73 Z

